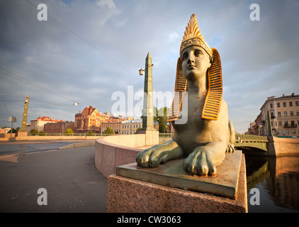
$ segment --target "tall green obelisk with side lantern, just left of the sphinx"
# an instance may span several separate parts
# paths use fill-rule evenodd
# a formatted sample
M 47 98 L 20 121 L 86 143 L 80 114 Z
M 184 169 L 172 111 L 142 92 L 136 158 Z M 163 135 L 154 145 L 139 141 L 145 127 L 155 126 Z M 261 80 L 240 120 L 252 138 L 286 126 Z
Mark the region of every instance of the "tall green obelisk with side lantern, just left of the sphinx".
M 145 70 L 139 70 L 140 76 L 145 72 L 145 89 L 143 96 L 142 128 L 140 131 L 154 131 L 154 111 L 152 101 L 152 56 L 150 52 L 145 59 Z

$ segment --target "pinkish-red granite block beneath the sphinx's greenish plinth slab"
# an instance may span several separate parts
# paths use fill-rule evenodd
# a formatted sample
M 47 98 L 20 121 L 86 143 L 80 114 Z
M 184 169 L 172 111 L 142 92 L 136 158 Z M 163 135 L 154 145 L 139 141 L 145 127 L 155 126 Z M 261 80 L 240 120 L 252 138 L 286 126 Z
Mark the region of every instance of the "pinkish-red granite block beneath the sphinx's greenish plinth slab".
M 235 199 L 192 192 L 111 175 L 107 183 L 107 212 L 193 213 L 247 212 L 245 159 L 239 170 Z

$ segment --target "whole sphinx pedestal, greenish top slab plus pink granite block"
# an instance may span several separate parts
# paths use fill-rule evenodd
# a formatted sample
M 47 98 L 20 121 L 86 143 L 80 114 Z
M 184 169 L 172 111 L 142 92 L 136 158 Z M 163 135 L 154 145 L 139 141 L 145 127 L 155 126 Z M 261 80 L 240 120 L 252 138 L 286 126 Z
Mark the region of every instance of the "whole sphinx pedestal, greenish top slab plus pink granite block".
M 135 163 L 117 167 L 116 175 L 108 177 L 107 212 L 247 212 L 241 151 L 226 154 L 216 177 L 188 175 L 180 168 L 182 161 L 157 168 L 140 168 Z

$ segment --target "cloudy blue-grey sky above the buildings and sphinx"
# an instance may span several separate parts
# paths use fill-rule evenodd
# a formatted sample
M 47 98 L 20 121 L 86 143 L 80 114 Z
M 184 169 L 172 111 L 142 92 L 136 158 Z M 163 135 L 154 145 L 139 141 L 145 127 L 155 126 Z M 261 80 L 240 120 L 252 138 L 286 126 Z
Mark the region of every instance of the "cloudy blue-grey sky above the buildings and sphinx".
M 28 123 L 74 121 L 86 106 L 139 118 L 138 70 L 148 52 L 154 104 L 170 107 L 181 40 L 196 13 L 220 53 L 230 120 L 244 133 L 267 97 L 299 94 L 298 12 L 295 0 L 1 0 L 0 127 L 11 126 L 9 116 L 21 126 L 26 94 Z

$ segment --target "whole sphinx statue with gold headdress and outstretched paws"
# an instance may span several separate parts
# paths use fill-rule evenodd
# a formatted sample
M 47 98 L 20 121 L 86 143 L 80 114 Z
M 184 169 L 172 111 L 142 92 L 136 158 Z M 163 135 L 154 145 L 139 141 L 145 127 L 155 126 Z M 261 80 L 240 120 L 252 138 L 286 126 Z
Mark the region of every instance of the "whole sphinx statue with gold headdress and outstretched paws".
M 174 128 L 173 138 L 143 150 L 136 157 L 137 165 L 158 167 L 186 157 L 185 172 L 213 176 L 225 153 L 235 151 L 235 129 L 222 99 L 220 55 L 205 42 L 195 14 L 181 42 L 174 100 L 167 121 Z

